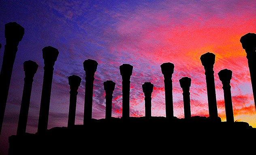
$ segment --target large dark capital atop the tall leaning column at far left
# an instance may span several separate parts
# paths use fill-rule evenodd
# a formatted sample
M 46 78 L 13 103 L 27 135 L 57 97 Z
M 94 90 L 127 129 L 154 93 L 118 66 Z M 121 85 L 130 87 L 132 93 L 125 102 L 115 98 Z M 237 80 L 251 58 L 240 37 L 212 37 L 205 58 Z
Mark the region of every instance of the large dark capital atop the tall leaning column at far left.
M 7 41 L 19 43 L 23 38 L 25 29 L 16 22 L 9 22 L 4 25 L 4 37 Z

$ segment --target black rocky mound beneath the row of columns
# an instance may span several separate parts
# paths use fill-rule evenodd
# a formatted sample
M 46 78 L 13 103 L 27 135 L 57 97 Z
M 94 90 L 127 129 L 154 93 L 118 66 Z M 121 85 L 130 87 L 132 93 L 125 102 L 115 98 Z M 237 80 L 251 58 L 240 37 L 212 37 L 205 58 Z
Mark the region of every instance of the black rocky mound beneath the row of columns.
M 92 151 L 106 154 L 130 149 L 132 152 L 152 153 L 152 150 L 160 150 L 171 153 L 180 147 L 192 146 L 200 150 L 214 150 L 220 147 L 219 141 L 234 147 L 237 143 L 256 138 L 255 133 L 256 129 L 246 122 L 227 124 L 200 116 L 188 120 L 175 117 L 92 119 L 86 125 L 51 128 L 44 136 L 37 133 L 10 136 L 9 155 L 35 152 L 80 155 Z M 249 143 L 246 143 L 247 146 Z M 229 149 L 223 147 L 222 151 L 225 150 Z

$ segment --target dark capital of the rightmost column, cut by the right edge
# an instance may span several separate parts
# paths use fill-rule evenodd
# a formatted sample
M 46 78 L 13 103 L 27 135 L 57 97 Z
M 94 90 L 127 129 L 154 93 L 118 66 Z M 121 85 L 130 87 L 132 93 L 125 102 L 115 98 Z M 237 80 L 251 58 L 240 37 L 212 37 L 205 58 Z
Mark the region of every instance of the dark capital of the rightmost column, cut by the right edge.
M 250 52 L 256 51 L 256 34 L 255 33 L 247 33 L 243 35 L 240 38 L 240 42 L 247 54 L 250 54 Z

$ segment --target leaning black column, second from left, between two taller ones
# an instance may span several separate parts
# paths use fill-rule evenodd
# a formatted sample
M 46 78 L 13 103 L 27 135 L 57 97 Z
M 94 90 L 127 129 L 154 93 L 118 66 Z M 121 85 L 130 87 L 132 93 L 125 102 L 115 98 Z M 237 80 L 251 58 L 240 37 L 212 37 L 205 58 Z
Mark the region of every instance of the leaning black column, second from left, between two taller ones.
M 21 99 L 21 107 L 19 112 L 19 122 L 17 127 L 17 135 L 23 135 L 26 133 L 26 127 L 28 122 L 28 110 L 30 105 L 30 97 L 32 91 L 32 83 L 34 81 L 34 75 L 36 74 L 38 64 L 34 61 L 28 60 L 23 63 L 25 72 L 24 87 Z

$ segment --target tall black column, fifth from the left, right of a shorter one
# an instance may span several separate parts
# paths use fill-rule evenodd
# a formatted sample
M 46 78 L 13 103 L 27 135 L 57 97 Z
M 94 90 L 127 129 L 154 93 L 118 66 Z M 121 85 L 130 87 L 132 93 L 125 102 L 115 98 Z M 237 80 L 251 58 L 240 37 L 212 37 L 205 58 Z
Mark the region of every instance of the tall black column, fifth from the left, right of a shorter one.
M 97 70 L 98 62 L 87 59 L 83 62 L 83 69 L 85 70 L 85 100 L 84 100 L 84 116 L 83 124 L 87 120 L 92 119 L 92 97 L 93 97 L 93 83 L 94 74 Z

